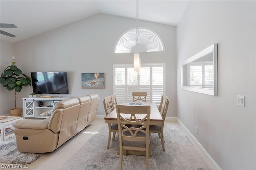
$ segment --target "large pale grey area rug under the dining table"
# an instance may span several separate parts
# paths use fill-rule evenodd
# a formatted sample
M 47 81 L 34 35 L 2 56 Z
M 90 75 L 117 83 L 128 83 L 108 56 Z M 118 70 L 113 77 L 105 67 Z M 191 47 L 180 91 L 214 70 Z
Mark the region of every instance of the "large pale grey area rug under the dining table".
M 119 168 L 119 136 L 108 144 L 108 126 L 104 125 L 59 170 L 116 170 Z M 188 139 L 178 123 L 164 125 L 165 150 L 162 150 L 161 139 L 152 133 L 149 159 L 150 170 L 210 170 L 206 160 Z M 146 169 L 144 156 L 123 156 L 123 170 Z

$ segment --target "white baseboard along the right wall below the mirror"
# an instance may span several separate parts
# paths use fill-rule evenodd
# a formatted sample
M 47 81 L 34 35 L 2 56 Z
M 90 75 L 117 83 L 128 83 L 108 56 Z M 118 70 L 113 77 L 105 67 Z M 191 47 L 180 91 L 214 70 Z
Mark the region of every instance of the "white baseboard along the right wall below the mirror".
M 211 166 L 213 170 L 221 170 L 221 168 L 218 166 L 218 164 L 212 159 L 212 157 L 206 152 L 204 147 L 196 140 L 196 138 L 190 133 L 190 131 L 183 125 L 183 123 L 180 121 L 180 119 L 176 118 L 177 122 L 180 124 L 182 129 L 186 132 L 188 135 L 188 138 L 194 142 L 196 147 L 200 150 L 200 152 L 203 154 L 204 158 L 207 160 L 208 164 Z

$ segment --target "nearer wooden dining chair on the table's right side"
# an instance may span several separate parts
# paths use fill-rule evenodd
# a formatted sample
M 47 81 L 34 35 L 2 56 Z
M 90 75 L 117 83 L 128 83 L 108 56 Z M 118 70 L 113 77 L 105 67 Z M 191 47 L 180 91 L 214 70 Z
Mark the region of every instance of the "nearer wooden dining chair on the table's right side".
M 169 98 L 166 96 L 165 101 L 164 101 L 164 109 L 161 113 L 162 118 L 163 118 L 162 125 L 150 125 L 149 126 L 149 132 L 158 133 L 159 138 L 161 138 L 163 151 L 165 151 L 165 148 L 164 148 L 164 120 L 166 117 L 168 106 L 169 106 Z

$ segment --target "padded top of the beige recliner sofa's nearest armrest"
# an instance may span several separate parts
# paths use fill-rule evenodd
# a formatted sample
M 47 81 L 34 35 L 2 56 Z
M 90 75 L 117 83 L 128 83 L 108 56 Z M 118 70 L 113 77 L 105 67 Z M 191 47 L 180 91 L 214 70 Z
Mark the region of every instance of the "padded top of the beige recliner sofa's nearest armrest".
M 19 120 L 13 123 L 13 127 L 20 129 L 46 129 L 48 122 L 39 120 Z

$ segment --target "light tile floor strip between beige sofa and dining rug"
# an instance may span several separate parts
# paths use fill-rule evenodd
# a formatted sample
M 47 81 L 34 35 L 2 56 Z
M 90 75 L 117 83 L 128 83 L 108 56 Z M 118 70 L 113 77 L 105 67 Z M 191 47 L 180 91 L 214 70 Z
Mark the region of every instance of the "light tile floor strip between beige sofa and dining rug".
M 88 127 L 62 144 L 57 150 L 45 153 L 36 161 L 28 164 L 28 170 L 57 170 L 68 158 L 70 158 L 81 146 L 85 144 L 100 128 L 105 125 L 104 119 L 95 119 Z M 106 145 L 107 147 L 107 145 Z M 25 166 L 24 166 L 25 167 Z M 0 169 L 2 170 L 2 163 Z M 17 168 L 11 168 L 17 169 Z M 3 169 L 7 170 L 7 169 Z

